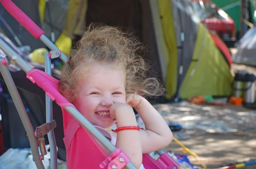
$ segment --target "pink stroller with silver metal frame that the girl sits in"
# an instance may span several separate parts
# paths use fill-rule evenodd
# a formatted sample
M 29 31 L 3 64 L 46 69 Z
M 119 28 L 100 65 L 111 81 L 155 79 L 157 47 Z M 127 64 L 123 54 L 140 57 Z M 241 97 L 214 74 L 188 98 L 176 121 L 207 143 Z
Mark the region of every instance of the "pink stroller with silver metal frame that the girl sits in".
M 122 152 L 121 149 L 116 148 L 97 130 L 86 118 L 84 118 L 78 110 L 68 102 L 58 92 L 58 80 L 51 76 L 51 59 L 60 57 L 63 62 L 67 62 L 67 56 L 61 53 L 59 49 L 44 35 L 44 31 L 41 30 L 26 14 L 23 13 L 12 0 L 0 0 L 3 7 L 21 24 L 23 25 L 36 39 L 40 39 L 47 45 L 52 51 L 44 54 L 45 59 L 45 72 L 32 68 L 27 62 L 25 62 L 12 48 L 7 45 L 2 39 L 0 39 L 0 49 L 7 55 L 6 58 L 0 58 L 2 64 L 0 64 L 0 72 L 3 79 L 8 87 L 8 90 L 15 103 L 15 107 L 20 115 L 20 119 L 25 127 L 27 136 L 29 138 L 29 144 L 32 149 L 33 159 L 38 169 L 44 169 L 42 160 L 47 151 L 45 148 L 44 135 L 48 135 L 50 144 L 50 156 L 51 156 L 51 169 L 57 169 L 57 149 L 56 141 L 54 136 L 54 128 L 56 127 L 55 120 L 52 119 L 52 101 L 55 101 L 62 109 L 64 130 L 67 128 L 67 119 L 75 121 L 77 127 L 84 127 L 86 129 L 86 144 L 80 145 L 85 146 L 87 152 L 93 152 L 84 154 L 84 159 L 90 161 L 87 166 L 83 168 L 94 169 L 135 169 L 134 165 L 129 162 L 130 159 Z M 16 64 L 23 71 L 26 72 L 26 78 L 32 83 L 37 84 L 46 93 L 46 123 L 34 130 L 26 110 L 22 104 L 17 88 L 13 82 L 12 76 L 7 68 L 7 65 Z M 65 130 L 64 132 L 67 132 Z M 72 131 L 70 131 L 72 132 Z M 64 138 L 64 142 L 70 140 Z M 107 152 L 99 146 L 99 143 L 105 147 Z M 39 145 L 39 149 L 38 149 Z M 67 147 L 66 147 L 67 148 Z M 157 153 L 160 155 L 157 160 L 154 160 L 150 155 L 143 154 L 143 165 L 145 169 L 179 169 L 178 164 L 163 150 L 158 150 Z

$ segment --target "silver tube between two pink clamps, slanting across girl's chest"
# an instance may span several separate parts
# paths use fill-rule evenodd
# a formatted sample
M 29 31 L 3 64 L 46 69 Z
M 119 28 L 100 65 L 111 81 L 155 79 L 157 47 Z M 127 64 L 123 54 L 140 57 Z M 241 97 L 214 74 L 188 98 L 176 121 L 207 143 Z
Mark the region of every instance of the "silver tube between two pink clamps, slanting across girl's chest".
M 109 154 L 115 151 L 116 147 L 111 144 L 111 142 L 108 141 L 108 139 L 105 138 L 105 136 L 102 135 L 102 133 L 99 132 L 99 130 L 97 130 L 93 124 L 91 124 L 83 115 L 81 115 L 81 113 L 76 110 L 75 107 L 64 107 L 64 109 L 67 110 L 67 112 L 70 113 L 70 115 L 72 115 L 87 131 L 89 131 L 91 135 L 93 135 L 93 137 L 96 138 L 96 140 L 99 141 L 99 143 L 102 144 L 105 149 L 107 149 Z M 125 167 L 127 169 L 136 169 L 131 162 L 127 163 Z

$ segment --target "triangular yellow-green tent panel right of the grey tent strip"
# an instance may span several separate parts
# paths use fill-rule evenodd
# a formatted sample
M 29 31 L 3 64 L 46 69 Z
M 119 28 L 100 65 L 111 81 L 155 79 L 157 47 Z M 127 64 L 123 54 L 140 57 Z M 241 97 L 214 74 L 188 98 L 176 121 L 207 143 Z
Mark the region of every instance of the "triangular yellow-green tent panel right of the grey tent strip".
M 193 60 L 180 87 L 181 98 L 198 95 L 229 96 L 233 77 L 208 30 L 199 25 Z

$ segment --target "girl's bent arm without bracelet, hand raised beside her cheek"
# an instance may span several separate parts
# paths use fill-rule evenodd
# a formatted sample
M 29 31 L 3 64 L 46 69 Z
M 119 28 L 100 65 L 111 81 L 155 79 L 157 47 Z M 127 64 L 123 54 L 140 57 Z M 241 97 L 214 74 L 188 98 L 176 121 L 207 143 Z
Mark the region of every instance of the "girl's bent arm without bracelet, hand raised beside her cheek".
M 134 107 L 145 123 L 145 130 L 140 130 L 143 153 L 162 149 L 172 141 L 172 131 L 157 110 L 143 97 L 128 96 L 127 104 Z

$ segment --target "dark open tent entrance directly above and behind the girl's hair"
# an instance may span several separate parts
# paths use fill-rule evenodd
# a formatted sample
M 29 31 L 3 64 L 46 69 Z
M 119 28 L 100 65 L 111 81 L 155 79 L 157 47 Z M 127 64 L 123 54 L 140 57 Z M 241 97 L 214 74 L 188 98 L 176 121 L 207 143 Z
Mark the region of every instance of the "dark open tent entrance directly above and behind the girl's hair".
M 144 53 L 143 57 L 151 62 L 151 76 L 163 81 L 149 1 L 111 0 L 109 3 L 104 0 L 88 0 L 87 2 L 86 26 L 90 23 L 104 23 L 109 26 L 119 26 L 122 31 L 133 34 L 148 47 L 148 52 Z

